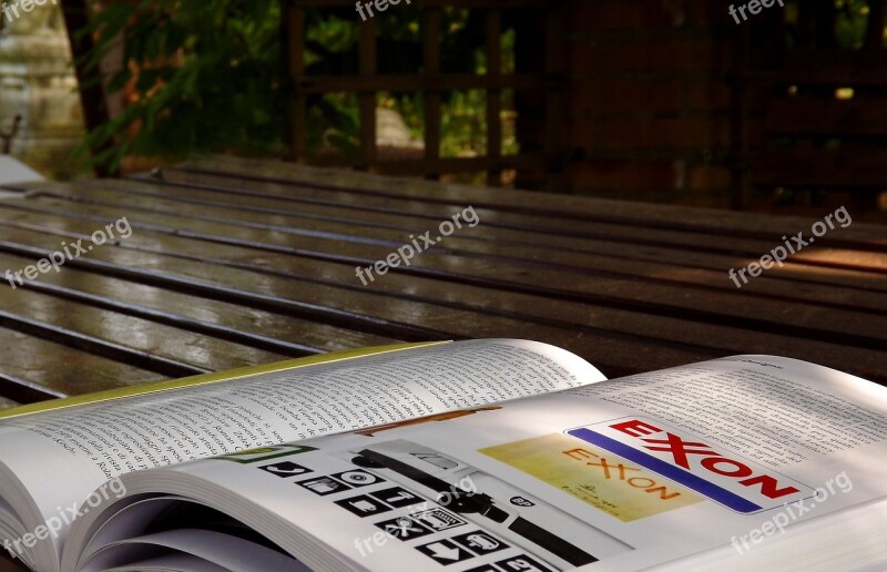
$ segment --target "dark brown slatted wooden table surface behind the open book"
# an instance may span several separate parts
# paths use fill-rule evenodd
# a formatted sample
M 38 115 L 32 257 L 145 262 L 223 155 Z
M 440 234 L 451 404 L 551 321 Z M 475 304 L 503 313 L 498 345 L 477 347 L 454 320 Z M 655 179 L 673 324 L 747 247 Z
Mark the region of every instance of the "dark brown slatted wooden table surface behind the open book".
M 7 186 L 0 268 L 126 217 L 133 234 L 0 282 L 0 407 L 396 340 L 548 341 L 621 376 L 733 354 L 887 382 L 887 228 L 213 159 Z M 480 223 L 365 286 L 357 266 L 473 207 Z M 853 215 L 853 212 L 850 212 Z M 11 401 L 10 401 L 11 400 Z

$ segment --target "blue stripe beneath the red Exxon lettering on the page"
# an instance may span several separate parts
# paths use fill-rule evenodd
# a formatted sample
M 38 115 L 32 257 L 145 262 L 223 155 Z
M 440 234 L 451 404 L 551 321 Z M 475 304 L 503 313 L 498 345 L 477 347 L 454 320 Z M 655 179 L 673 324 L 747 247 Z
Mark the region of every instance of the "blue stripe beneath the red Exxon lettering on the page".
M 715 500 L 737 512 L 757 512 L 763 509 L 763 507 L 758 507 L 754 502 L 743 499 L 734 492 L 722 489 L 717 484 L 696 477 L 692 472 L 685 471 L 684 469 L 670 464 L 661 459 L 656 459 L 652 454 L 639 451 L 638 449 L 629 447 L 628 445 L 621 443 L 615 439 L 611 439 L 590 429 L 571 429 L 567 431 L 567 435 L 577 437 L 592 445 L 597 445 L 598 447 L 606 449 L 608 451 L 624 459 L 634 461 L 641 467 L 645 467 L 665 478 L 669 478 L 675 482 L 680 482 L 684 487 L 693 489 L 700 494 L 704 494 L 705 497 L 708 497 L 710 499 Z

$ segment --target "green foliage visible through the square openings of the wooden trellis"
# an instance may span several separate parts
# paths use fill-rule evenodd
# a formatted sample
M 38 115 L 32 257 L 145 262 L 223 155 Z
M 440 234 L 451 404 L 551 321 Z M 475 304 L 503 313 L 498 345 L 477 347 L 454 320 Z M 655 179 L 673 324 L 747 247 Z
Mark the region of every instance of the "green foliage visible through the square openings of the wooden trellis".
M 354 10 L 307 12 L 306 65 L 309 74 L 329 75 L 358 71 L 358 27 Z M 485 35 L 479 13 L 447 8 L 441 18 L 441 69 L 447 73 L 487 73 Z M 376 19 L 379 73 L 418 73 L 422 69 L 422 39 L 418 11 L 389 10 Z M 514 32 L 502 35 L 502 72 L 514 70 Z M 445 92 L 441 109 L 441 156 L 482 155 L 486 152 L 486 93 L 482 90 Z M 422 93 L 383 92 L 377 105 L 397 111 L 412 136 L 422 139 L 425 129 Z M 513 93 L 507 92 L 503 109 L 513 109 Z M 359 149 L 357 98 L 353 93 L 325 94 L 309 99 L 308 147 L 312 152 L 334 151 L 350 156 Z M 517 153 L 514 130 L 504 130 L 504 153 Z

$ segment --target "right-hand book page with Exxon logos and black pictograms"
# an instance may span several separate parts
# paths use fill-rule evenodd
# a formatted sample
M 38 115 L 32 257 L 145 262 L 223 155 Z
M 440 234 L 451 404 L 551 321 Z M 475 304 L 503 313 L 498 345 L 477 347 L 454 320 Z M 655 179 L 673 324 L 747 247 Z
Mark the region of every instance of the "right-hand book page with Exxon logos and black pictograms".
M 885 428 L 886 388 L 741 356 L 180 464 L 162 490 L 123 480 L 188 491 L 312 568 L 638 570 L 887 499 Z

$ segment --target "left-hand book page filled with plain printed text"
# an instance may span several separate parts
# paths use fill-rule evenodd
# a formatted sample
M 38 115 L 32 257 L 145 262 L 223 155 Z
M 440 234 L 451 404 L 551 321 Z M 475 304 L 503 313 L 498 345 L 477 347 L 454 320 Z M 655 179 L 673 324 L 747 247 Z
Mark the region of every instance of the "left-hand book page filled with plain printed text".
M 0 460 L 49 519 L 126 472 L 601 379 L 582 359 L 544 344 L 426 346 L 7 419 Z

